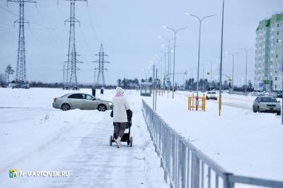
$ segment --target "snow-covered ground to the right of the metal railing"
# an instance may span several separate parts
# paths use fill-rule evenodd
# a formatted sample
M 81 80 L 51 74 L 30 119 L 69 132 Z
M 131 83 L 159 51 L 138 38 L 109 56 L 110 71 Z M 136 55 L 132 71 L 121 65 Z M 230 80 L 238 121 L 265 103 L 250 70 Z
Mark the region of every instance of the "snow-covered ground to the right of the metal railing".
M 187 110 L 187 92 L 157 97 L 157 112 L 197 148 L 236 175 L 283 180 L 281 116 L 253 113 L 255 97 L 224 93 L 221 117 L 218 102 L 207 101 L 206 112 Z M 152 98 L 146 98 L 152 105 Z M 237 106 L 237 107 L 236 107 Z

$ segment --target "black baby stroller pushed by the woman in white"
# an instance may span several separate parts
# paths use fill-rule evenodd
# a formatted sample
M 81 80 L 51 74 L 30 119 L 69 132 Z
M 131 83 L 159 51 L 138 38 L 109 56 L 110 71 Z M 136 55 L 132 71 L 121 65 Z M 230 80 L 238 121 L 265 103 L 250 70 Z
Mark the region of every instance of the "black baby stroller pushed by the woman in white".
M 110 116 L 113 117 L 113 110 L 112 110 Z M 127 142 L 127 145 L 129 147 L 132 147 L 132 136 L 131 136 L 132 110 L 127 110 L 127 119 L 128 119 L 128 126 L 126 127 L 126 129 L 129 129 L 129 132 L 123 134 L 121 142 Z M 109 145 L 110 146 L 112 146 L 112 143 L 114 142 L 114 139 L 117 139 L 114 122 L 113 122 L 113 127 L 114 127 L 113 136 L 110 136 L 110 140 L 109 140 Z

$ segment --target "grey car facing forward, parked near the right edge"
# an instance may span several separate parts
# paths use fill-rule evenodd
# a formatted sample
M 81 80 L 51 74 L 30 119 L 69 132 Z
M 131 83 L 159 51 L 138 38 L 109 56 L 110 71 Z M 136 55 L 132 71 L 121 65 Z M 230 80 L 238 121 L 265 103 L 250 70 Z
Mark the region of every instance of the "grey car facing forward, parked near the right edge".
M 253 112 L 272 112 L 280 115 L 281 105 L 275 98 L 260 96 L 255 98 L 255 101 L 253 102 Z

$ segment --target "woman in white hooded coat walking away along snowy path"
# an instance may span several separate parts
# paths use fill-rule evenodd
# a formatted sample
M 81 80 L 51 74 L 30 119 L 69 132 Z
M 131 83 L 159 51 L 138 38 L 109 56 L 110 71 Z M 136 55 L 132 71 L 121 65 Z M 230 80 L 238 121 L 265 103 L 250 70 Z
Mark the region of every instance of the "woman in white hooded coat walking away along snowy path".
M 113 102 L 113 122 L 115 123 L 116 136 L 115 143 L 117 148 L 121 146 L 121 139 L 128 124 L 127 110 L 129 110 L 129 104 L 124 97 L 124 91 L 122 88 L 116 88 L 116 95 L 112 99 Z

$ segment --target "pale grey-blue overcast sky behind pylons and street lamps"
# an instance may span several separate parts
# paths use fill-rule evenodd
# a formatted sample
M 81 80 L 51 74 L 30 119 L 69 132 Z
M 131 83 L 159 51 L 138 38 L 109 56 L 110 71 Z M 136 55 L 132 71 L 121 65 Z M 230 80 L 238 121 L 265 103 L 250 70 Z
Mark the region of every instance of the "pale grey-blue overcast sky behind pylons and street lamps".
M 226 0 L 224 14 L 224 52 L 239 52 L 240 47 L 253 48 L 248 53 L 248 79 L 253 81 L 255 63 L 255 29 L 258 22 L 272 14 L 283 11 L 282 0 Z M 6 1 L 0 2 L 0 72 L 8 64 L 16 70 L 19 6 Z M 93 82 L 91 61 L 100 44 L 103 44 L 111 64 L 107 64 L 106 84 L 117 83 L 117 78 L 142 78 L 158 51 L 166 51 L 166 44 L 158 35 L 173 37 L 173 33 L 162 28 L 188 27 L 178 33 L 176 45 L 176 72 L 192 69 L 197 75 L 197 49 L 199 23 L 196 18 L 185 16 L 188 11 L 197 16 L 216 14 L 203 21 L 201 41 L 201 64 L 205 71 L 213 61 L 212 75 L 217 74 L 221 40 L 221 0 L 89 0 L 88 4 L 76 3 L 76 18 L 81 21 L 76 26 L 76 50 L 81 56 L 78 72 L 79 83 Z M 25 28 L 25 49 L 27 78 L 29 81 L 62 81 L 62 66 L 67 60 L 69 25 L 69 2 L 57 0 L 38 0 L 37 6 L 25 6 L 25 18 L 30 27 Z M 235 84 L 243 84 L 246 55 L 241 52 L 235 59 Z M 231 76 L 232 59 L 224 59 L 224 74 Z M 97 64 L 96 64 L 97 66 Z M 202 68 L 200 72 L 202 76 Z M 176 79 L 180 81 L 180 76 Z

